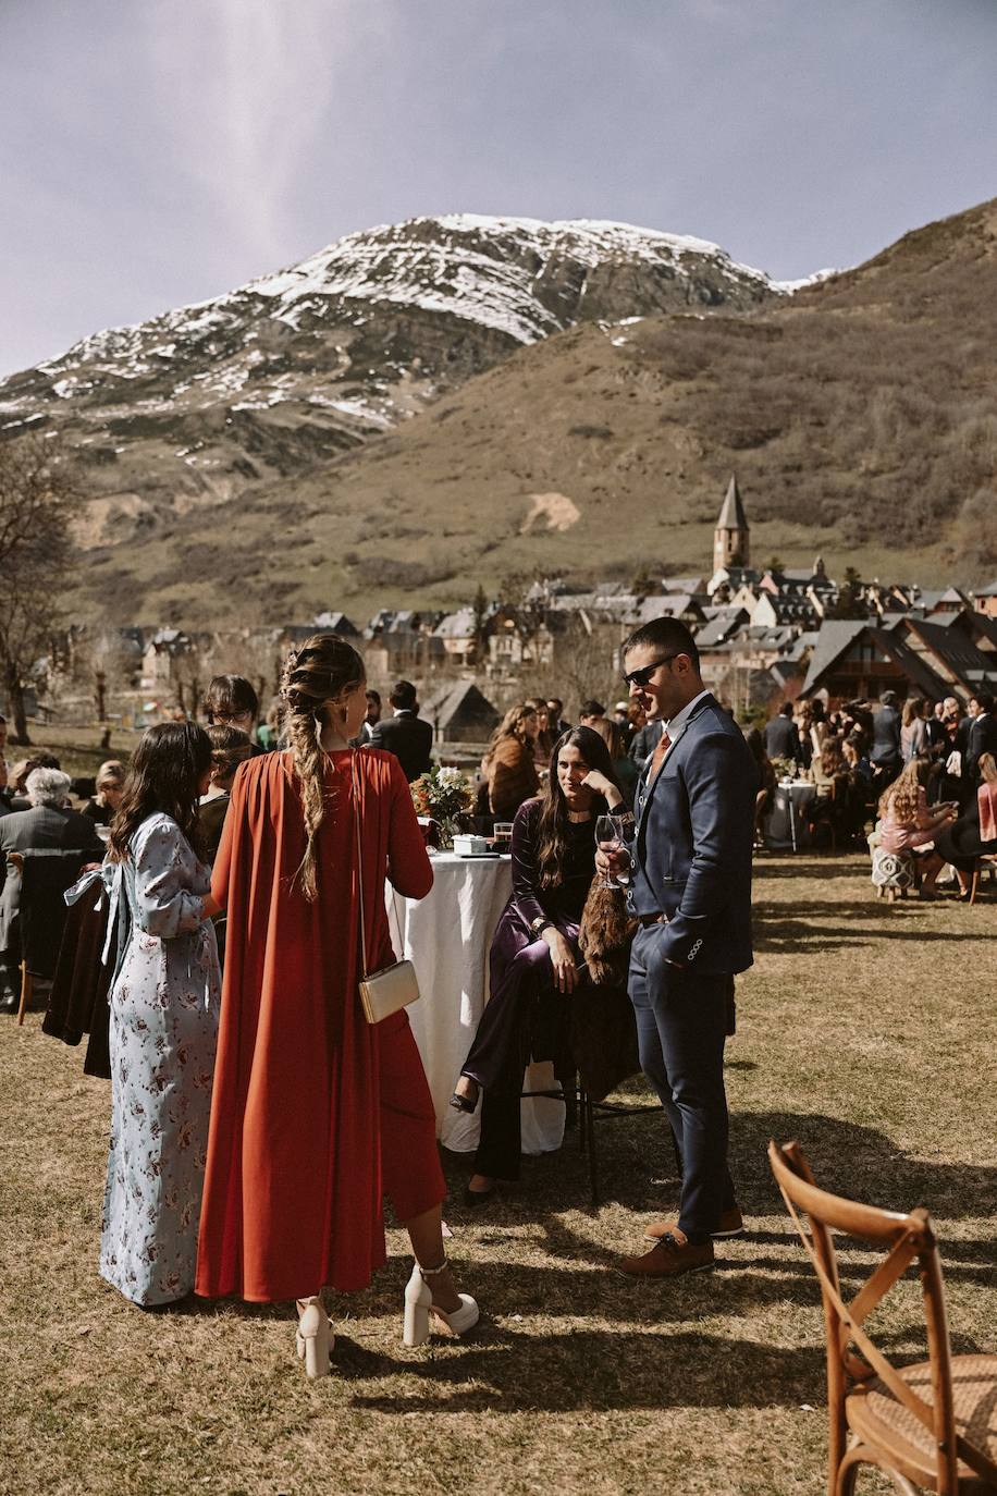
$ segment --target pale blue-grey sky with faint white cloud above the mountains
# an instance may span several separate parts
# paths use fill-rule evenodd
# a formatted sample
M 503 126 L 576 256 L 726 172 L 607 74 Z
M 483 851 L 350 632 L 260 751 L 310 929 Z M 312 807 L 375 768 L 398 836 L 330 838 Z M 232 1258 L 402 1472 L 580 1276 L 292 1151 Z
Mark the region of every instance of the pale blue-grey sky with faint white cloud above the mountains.
M 0 375 L 419 214 L 779 278 L 997 196 L 997 0 L 0 0 Z

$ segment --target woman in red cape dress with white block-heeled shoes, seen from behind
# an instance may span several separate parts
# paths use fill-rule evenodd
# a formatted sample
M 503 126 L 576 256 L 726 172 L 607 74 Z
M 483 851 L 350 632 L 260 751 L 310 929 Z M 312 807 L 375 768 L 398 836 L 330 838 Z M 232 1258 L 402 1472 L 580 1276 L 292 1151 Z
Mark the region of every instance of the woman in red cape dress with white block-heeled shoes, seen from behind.
M 291 651 L 291 747 L 241 766 L 212 878 L 229 923 L 196 1288 L 297 1299 L 297 1349 L 317 1376 L 332 1348 L 321 1288 L 365 1288 L 386 1261 L 384 1194 L 416 1255 L 407 1342 L 422 1343 L 429 1309 L 454 1333 L 477 1319 L 445 1264 L 433 1106 L 408 1014 L 369 1025 L 357 989 L 354 817 L 369 971 L 395 960 L 386 874 L 408 898 L 432 887 L 398 760 L 347 745 L 365 690 L 363 660 L 335 634 Z

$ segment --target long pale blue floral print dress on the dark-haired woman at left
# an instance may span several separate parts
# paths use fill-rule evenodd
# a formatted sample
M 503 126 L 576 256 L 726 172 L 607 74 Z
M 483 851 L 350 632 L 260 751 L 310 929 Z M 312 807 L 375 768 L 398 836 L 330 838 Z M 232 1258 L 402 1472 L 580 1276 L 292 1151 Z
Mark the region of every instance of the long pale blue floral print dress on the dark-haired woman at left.
M 121 935 L 100 1276 L 149 1306 L 194 1287 L 220 974 L 211 875 L 176 821 L 149 815 L 130 853 L 105 863 Z

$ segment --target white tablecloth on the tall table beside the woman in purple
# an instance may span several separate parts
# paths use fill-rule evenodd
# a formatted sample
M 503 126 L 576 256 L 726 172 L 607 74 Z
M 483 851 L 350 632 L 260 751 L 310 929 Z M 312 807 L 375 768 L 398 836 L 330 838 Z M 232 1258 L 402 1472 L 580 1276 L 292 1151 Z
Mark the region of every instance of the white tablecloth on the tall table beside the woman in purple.
M 436 1134 L 444 1147 L 468 1153 L 478 1144 L 478 1116 L 456 1112 L 448 1101 L 487 1002 L 489 947 L 513 887 L 511 859 L 438 853 L 432 865 L 432 892 L 420 902 L 389 884 L 389 922 L 392 944 L 399 950 L 401 934 L 419 974 L 422 998 L 408 1016 L 436 1109 Z M 549 1064 L 529 1067 L 525 1091 L 553 1088 Z M 561 1147 L 564 1119 L 559 1101 L 523 1101 L 523 1152 Z

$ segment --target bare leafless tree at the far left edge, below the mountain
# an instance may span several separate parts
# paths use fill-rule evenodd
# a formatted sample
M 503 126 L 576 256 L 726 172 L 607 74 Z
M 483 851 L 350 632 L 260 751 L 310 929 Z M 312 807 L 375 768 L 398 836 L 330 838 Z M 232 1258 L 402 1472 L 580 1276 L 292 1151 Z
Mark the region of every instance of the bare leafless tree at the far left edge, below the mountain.
M 25 691 L 39 657 L 51 654 L 58 600 L 72 570 L 70 519 L 79 486 L 57 440 L 0 443 L 0 678 L 15 744 L 28 744 Z

